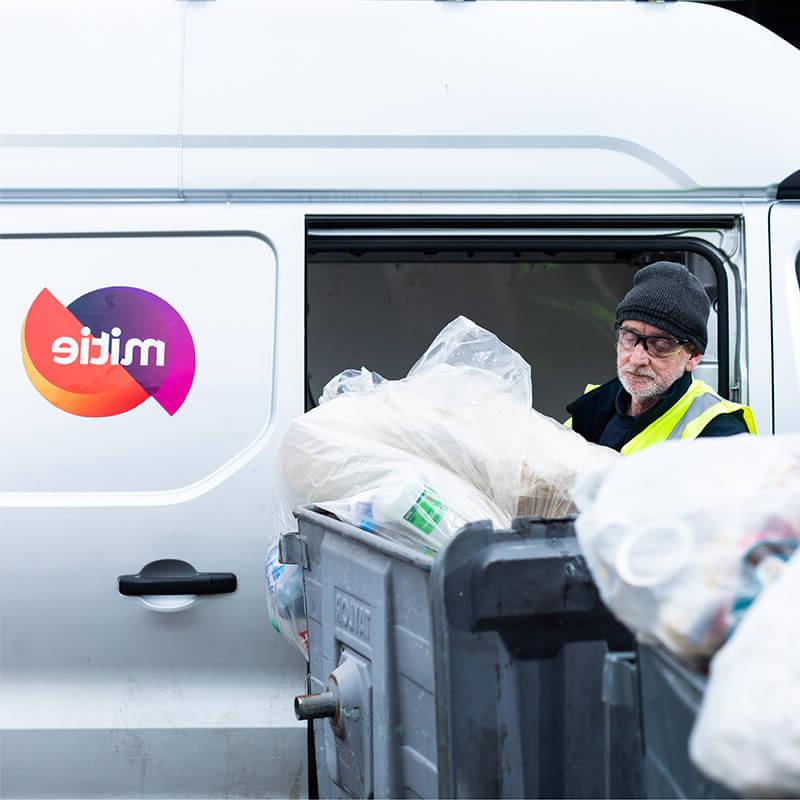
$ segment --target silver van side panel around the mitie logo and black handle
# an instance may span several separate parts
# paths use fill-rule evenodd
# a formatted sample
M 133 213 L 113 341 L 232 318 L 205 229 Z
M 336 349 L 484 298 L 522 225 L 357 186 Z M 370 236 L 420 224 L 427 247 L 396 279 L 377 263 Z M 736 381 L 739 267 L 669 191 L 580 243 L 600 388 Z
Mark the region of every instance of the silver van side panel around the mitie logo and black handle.
M 263 559 L 275 448 L 303 410 L 302 216 L 6 206 L 0 230 L 16 275 L 0 300 L 3 796 L 300 796 L 305 662 L 269 628 Z M 42 288 L 66 304 L 115 285 L 159 295 L 189 327 L 197 369 L 174 416 L 152 398 L 75 416 L 22 368 Z M 164 558 L 233 572 L 238 588 L 173 613 L 119 594 L 119 575 Z

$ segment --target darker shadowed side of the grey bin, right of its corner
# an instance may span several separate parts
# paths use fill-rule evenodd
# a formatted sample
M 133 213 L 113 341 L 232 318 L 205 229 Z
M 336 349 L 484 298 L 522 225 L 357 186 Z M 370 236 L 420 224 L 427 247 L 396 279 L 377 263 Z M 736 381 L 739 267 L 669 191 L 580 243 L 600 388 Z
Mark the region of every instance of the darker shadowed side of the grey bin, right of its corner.
M 467 526 L 434 562 L 439 794 L 603 797 L 602 676 L 630 634 L 600 601 L 571 520 Z M 638 795 L 638 773 L 615 784 Z

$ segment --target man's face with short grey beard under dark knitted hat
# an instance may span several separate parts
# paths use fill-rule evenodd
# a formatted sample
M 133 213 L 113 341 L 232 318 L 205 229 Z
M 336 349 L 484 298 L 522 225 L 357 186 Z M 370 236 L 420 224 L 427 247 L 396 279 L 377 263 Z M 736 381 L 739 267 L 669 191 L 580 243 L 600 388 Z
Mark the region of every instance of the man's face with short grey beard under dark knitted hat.
M 661 328 L 645 322 L 626 320 L 622 327 L 641 336 L 674 338 Z M 685 372 L 691 372 L 701 358 L 702 355 L 694 352 L 691 345 L 684 345 L 670 355 L 658 357 L 652 348 L 645 350 L 643 342 L 639 342 L 632 350 L 626 350 L 617 340 L 617 376 L 625 391 L 639 400 L 664 394 Z

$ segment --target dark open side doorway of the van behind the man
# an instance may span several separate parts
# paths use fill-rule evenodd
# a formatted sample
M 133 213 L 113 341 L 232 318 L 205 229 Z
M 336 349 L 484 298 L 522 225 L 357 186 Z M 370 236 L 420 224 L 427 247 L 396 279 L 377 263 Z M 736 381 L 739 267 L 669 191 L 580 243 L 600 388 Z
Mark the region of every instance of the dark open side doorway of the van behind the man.
M 697 374 L 728 395 L 726 278 L 705 243 L 309 230 L 307 408 L 343 369 L 403 377 L 441 328 L 463 314 L 531 364 L 534 405 L 563 419 L 587 383 L 615 376 L 616 306 L 636 270 L 657 260 L 686 265 L 706 287 L 709 346 Z

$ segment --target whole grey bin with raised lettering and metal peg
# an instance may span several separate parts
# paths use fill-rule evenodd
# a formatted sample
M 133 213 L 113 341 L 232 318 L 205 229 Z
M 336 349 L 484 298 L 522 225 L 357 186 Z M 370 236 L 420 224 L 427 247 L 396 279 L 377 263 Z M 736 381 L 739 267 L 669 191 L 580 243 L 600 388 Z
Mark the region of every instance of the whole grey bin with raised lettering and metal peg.
M 309 508 L 304 567 L 321 797 L 638 797 L 632 716 L 602 702 L 628 631 L 571 519 L 462 529 L 435 559 Z

